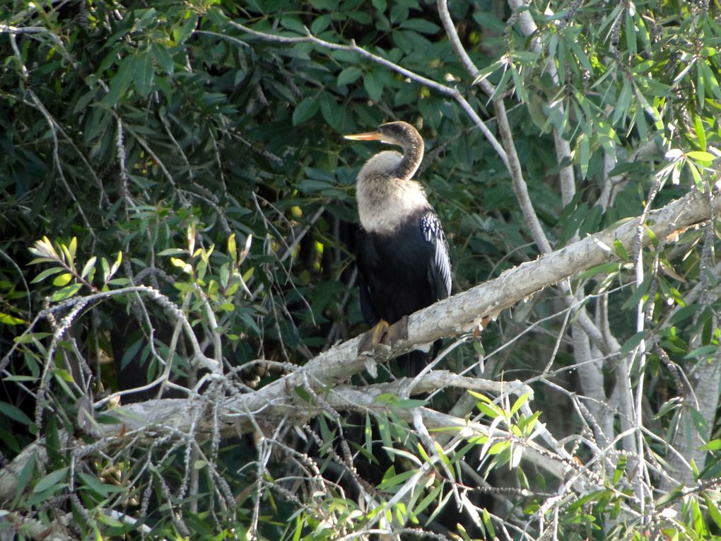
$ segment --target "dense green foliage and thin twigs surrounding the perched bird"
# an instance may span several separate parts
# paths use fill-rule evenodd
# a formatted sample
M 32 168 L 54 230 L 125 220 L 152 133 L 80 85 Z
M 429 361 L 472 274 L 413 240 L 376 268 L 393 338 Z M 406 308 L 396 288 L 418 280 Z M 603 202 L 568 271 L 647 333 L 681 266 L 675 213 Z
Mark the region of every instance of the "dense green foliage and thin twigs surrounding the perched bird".
M 283 415 L 227 408 L 365 330 L 353 183 L 378 148 L 344 133 L 418 126 L 456 292 L 632 217 L 641 239 L 689 191 L 717 208 L 720 21 L 707 1 L 6 2 L 0 532 L 718 534 L 710 211 L 446 340 L 435 368 L 468 389 L 411 398 L 391 363 L 294 385 Z

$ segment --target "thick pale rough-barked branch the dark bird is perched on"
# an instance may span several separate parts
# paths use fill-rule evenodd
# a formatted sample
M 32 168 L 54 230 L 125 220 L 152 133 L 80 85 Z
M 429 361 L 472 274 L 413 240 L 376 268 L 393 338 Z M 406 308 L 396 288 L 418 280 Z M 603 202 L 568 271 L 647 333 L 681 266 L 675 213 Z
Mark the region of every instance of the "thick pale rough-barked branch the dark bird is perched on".
M 709 199 L 711 208 L 709 208 Z M 668 203 L 668 205 L 646 215 L 647 228 L 655 237 L 671 237 L 683 232 L 691 226 L 702 224 L 704 221 L 721 214 L 721 195 L 715 193 L 712 198 L 692 190 L 683 198 Z M 597 234 L 573 243 L 567 247 L 544 255 L 541 258 L 518 265 L 518 267 L 505 271 L 494 280 L 482 283 L 468 291 L 456 294 L 448 299 L 411 315 L 408 322 L 408 338 L 402 340 L 391 351 L 379 352 L 376 361 L 382 362 L 392 356 L 410 351 L 412 348 L 424 343 L 451 335 L 467 333 L 473 330 L 482 317 L 497 315 L 502 309 L 508 308 L 532 294 L 541 291 L 576 273 L 586 271 L 596 265 L 601 265 L 617 256 L 612 250 L 614 242 L 621 242 L 630 250 L 637 235 L 639 219 L 629 219 L 623 224 L 611 227 Z M 646 233 L 642 242 L 647 245 L 650 237 Z M 224 398 L 218 404 L 217 418 L 221 420 L 221 434 L 231 435 L 253 431 L 258 426 L 257 420 L 272 422 L 278 418 L 298 422 L 307 420 L 311 411 L 308 403 L 301 399 L 296 392 L 297 388 L 306 392 L 324 395 L 329 388 L 345 382 L 350 376 L 363 371 L 367 358 L 357 355 L 359 338 L 352 338 L 345 343 L 330 348 L 308 361 L 304 366 L 280 377 L 275 382 L 262 387 L 256 392 L 238 394 Z M 208 374 L 208 381 L 224 377 L 221 374 Z M 402 380 L 408 384 L 408 380 Z M 433 384 L 432 382 L 435 382 Z M 508 392 L 511 383 L 486 382 L 484 380 L 465 379 L 468 387 L 485 385 L 489 392 Z M 418 377 L 412 382 L 417 392 L 428 392 L 434 387 L 448 384 L 447 380 L 433 379 L 433 374 Z M 373 388 L 372 386 L 369 386 Z M 370 390 L 368 388 L 367 390 Z M 348 387 L 345 399 L 350 391 Z M 366 395 L 368 393 L 366 392 Z M 357 395 L 356 395 L 357 396 Z M 335 400 L 335 399 L 333 399 Z M 133 436 L 144 434 L 152 437 L 156 434 L 167 434 L 169 431 L 188 434 L 193 430 L 196 415 L 188 415 L 196 408 L 205 408 L 208 400 L 202 395 L 195 395 L 187 399 L 149 400 L 144 403 L 126 405 L 113 408 L 112 413 L 124 423 L 121 429 L 118 425 L 100 425 L 98 438 L 105 438 L 110 443 L 122 444 L 123 437 L 128 441 Z M 434 412 L 433 415 L 436 413 Z M 438 414 L 441 415 L 441 414 Z M 203 415 L 200 422 L 195 425 L 199 436 L 210 436 L 213 433 L 214 415 Z M 428 414 L 427 418 L 432 416 Z M 448 421 L 445 419 L 443 422 Z M 430 423 L 430 421 L 427 421 Z M 33 446 L 30 447 L 34 447 Z M 43 449 L 25 449 L 12 462 L 11 465 L 0 471 L 0 503 L 14 496 L 15 475 L 27 462 L 29 454 L 37 453 L 38 462 L 43 462 Z M 524 455 L 526 456 L 526 455 Z

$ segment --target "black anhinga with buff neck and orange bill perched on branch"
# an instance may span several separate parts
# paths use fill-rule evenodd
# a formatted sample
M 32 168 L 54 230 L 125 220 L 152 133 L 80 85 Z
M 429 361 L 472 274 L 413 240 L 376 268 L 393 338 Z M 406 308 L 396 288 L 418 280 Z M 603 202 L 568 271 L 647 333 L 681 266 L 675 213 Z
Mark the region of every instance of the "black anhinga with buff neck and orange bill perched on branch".
M 377 131 L 345 136 L 402 147 L 374 155 L 358 173 L 355 198 L 361 231 L 358 276 L 361 312 L 371 330 L 358 353 L 407 336 L 407 316 L 451 294 L 451 260 L 443 227 L 425 190 L 411 177 L 423 159 L 423 138 L 405 122 L 381 124 Z M 394 325 L 398 323 L 398 325 Z M 390 327 L 394 325 L 394 327 Z M 415 376 L 426 364 L 422 351 L 412 351 L 407 371 Z

